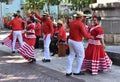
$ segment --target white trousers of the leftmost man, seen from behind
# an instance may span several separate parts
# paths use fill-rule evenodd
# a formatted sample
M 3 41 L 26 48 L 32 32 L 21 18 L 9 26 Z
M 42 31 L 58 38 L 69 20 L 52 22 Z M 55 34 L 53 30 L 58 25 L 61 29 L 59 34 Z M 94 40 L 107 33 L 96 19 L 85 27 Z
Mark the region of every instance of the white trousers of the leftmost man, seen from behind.
M 24 44 L 22 38 L 22 31 L 13 31 L 12 51 L 15 51 L 15 43 L 17 39 L 20 42 L 20 46 L 22 46 Z

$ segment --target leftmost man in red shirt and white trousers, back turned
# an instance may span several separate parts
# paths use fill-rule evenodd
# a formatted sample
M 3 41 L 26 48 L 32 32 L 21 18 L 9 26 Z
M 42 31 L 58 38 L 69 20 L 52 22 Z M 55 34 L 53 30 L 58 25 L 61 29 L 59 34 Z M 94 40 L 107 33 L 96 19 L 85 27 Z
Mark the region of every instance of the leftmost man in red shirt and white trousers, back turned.
M 22 38 L 22 22 L 24 22 L 21 18 L 18 17 L 17 13 L 14 13 L 14 19 L 11 20 L 7 26 L 12 26 L 12 34 L 13 34 L 13 41 L 12 41 L 12 53 L 15 53 L 15 43 L 18 39 L 20 42 L 20 45 L 22 46 L 24 44 L 23 38 Z

